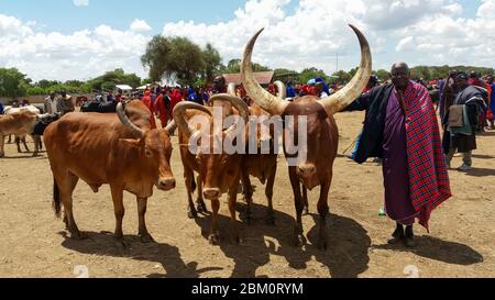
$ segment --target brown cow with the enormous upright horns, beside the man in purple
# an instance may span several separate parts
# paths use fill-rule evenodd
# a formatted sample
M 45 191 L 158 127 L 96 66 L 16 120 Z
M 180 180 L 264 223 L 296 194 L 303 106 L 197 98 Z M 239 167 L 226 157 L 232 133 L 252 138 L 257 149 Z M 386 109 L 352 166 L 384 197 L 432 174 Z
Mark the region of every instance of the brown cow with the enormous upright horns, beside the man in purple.
M 332 180 L 332 166 L 337 157 L 339 142 L 339 131 L 336 120 L 333 119 L 333 114 L 351 104 L 354 99 L 361 95 L 371 76 L 372 56 L 370 45 L 364 35 L 358 29 L 352 25 L 351 27 L 356 33 L 361 44 L 362 58 L 360 69 L 345 88 L 321 100 L 314 96 L 306 96 L 296 99 L 293 103 L 285 102 L 265 91 L 256 82 L 252 73 L 251 57 L 254 44 L 263 30 L 253 36 L 245 48 L 241 73 L 242 81 L 248 95 L 260 107 L 274 115 L 296 116 L 294 126 L 286 124 L 284 127 L 284 131 L 289 133 L 288 138 L 286 134 L 284 134 L 285 146 L 287 146 L 287 142 L 297 143 L 298 135 L 294 133 L 298 132 L 298 118 L 302 116 L 307 120 L 307 148 L 304 149 L 307 154 L 306 162 L 297 162 L 297 166 L 289 167 L 290 184 L 293 186 L 297 212 L 297 224 L 295 227 L 296 245 L 302 245 L 305 242 L 301 220 L 305 203 L 301 195 L 301 185 L 309 190 L 320 186 L 321 191 L 320 199 L 318 201 L 318 212 L 320 214 L 318 246 L 320 248 L 327 248 L 326 220 L 329 214 L 328 195 Z M 290 133 L 293 133 L 292 136 Z M 304 145 L 299 145 L 299 147 L 300 146 Z M 287 151 L 286 157 L 293 158 Z

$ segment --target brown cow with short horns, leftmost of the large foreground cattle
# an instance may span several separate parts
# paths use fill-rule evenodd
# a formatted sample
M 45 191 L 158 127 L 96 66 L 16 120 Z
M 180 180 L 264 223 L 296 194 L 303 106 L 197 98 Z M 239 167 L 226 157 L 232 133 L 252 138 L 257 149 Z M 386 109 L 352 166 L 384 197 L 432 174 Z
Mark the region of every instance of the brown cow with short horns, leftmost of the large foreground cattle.
M 145 224 L 147 198 L 153 187 L 168 191 L 175 188 L 170 170 L 172 143 L 166 130 L 150 130 L 147 109 L 133 101 L 130 110 L 134 124 L 119 103 L 118 114 L 69 113 L 45 131 L 45 144 L 54 176 L 54 209 L 72 237 L 82 238 L 73 215 L 73 192 L 82 179 L 95 192 L 110 185 L 117 226 L 116 240 L 125 246 L 122 233 L 123 191 L 136 196 L 139 235 L 142 242 L 153 242 Z

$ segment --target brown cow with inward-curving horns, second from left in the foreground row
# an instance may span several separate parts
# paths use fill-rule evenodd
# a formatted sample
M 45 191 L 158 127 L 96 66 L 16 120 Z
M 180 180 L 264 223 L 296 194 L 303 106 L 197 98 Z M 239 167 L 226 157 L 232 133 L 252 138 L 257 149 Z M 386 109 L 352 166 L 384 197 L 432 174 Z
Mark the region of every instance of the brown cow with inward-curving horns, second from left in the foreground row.
M 249 120 L 249 108 L 239 98 L 230 95 L 216 95 L 211 98 L 212 101 L 229 101 L 240 112 L 241 118 L 245 123 Z M 202 197 L 211 201 L 212 215 L 211 215 L 211 231 L 209 241 L 212 245 L 219 243 L 220 236 L 217 230 L 217 219 L 220 209 L 220 197 L 223 193 L 229 195 L 229 210 L 232 218 L 232 225 L 234 229 L 233 240 L 239 243 L 240 236 L 237 229 L 235 204 L 237 193 L 239 188 L 239 180 L 241 178 L 242 155 L 233 154 L 229 155 L 223 151 L 221 154 L 202 153 L 199 151 L 197 154 L 193 154 L 189 151 L 189 144 L 191 136 L 197 136 L 200 131 L 206 133 L 207 141 L 199 141 L 199 143 L 210 142 L 212 145 L 216 141 L 226 141 L 230 138 L 232 132 L 237 126 L 233 124 L 227 130 L 221 132 L 213 132 L 213 113 L 212 108 L 202 107 L 193 102 L 180 102 L 174 108 L 174 120 L 179 129 L 179 143 L 180 143 L 180 156 L 184 165 L 184 178 L 186 181 L 188 203 L 189 203 L 189 218 L 197 216 L 197 210 L 193 203 L 193 193 L 195 191 L 194 175 L 195 171 L 198 176 L 198 204 L 200 210 L 206 210 Z M 190 127 L 189 122 L 193 118 L 202 115 L 209 120 L 209 129 L 201 129 L 198 124 L 196 127 Z M 216 120 L 221 122 L 222 120 Z

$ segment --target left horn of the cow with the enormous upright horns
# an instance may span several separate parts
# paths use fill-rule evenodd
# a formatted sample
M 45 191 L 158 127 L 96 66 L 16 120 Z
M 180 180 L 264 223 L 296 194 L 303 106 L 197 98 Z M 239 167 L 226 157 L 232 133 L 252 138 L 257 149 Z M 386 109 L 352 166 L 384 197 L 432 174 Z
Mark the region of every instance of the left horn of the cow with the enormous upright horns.
M 263 32 L 264 29 L 260 30 L 248 43 L 244 51 L 244 58 L 241 64 L 241 76 L 242 82 L 244 85 L 245 91 L 251 99 L 256 102 L 262 109 L 266 110 L 271 114 L 282 114 L 287 107 L 288 102 L 285 103 L 279 98 L 271 95 L 268 91 L 263 89 L 260 84 L 254 79 L 253 69 L 251 66 L 251 59 L 253 56 L 254 44 L 257 37 Z

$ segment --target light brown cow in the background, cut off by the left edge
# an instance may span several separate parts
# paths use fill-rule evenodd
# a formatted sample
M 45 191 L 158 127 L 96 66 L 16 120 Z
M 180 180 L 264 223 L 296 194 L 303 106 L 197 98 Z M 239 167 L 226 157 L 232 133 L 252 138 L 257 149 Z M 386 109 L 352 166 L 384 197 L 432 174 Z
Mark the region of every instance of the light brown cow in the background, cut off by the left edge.
M 20 141 L 23 141 L 24 147 L 26 148 L 26 151 L 29 151 L 25 144 L 25 138 L 22 140 L 22 137 L 28 134 L 31 135 L 33 133 L 36 121 L 36 113 L 29 110 L 22 110 L 15 113 L 0 115 L 0 157 L 3 157 L 6 155 L 3 149 L 4 137 L 10 134 L 21 136 L 15 138 L 19 153 L 21 153 L 21 147 L 19 145 Z M 33 156 L 36 156 L 38 153 L 41 138 L 40 136 L 35 135 L 32 135 L 32 137 L 35 144 Z

